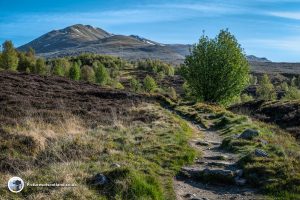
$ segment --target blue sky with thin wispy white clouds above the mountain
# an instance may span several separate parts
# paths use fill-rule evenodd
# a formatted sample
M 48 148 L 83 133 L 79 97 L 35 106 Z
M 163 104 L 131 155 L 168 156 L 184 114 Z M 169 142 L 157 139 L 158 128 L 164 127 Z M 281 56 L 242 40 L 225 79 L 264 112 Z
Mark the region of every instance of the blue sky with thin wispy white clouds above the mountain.
M 78 23 L 184 44 L 228 28 L 247 54 L 300 62 L 300 0 L 0 0 L 1 43 Z

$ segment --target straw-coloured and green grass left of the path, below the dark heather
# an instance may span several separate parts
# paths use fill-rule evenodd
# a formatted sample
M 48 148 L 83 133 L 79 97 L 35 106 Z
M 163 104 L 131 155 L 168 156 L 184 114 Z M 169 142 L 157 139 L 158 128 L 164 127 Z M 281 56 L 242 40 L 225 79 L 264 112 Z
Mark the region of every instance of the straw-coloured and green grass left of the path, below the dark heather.
M 1 199 L 174 199 L 173 177 L 197 156 L 188 144 L 193 130 L 159 105 L 145 104 L 132 113 L 147 113 L 150 120 L 123 124 L 120 119 L 113 126 L 57 136 L 34 156 L 10 149 L 20 166 L 23 157 L 29 162 L 15 173 L 0 172 L 2 182 L 18 175 L 30 183 L 76 183 L 77 187 L 25 187 L 16 195 L 1 189 Z M 111 167 L 113 163 L 121 168 Z M 89 180 L 97 173 L 105 174 L 109 183 L 91 185 Z

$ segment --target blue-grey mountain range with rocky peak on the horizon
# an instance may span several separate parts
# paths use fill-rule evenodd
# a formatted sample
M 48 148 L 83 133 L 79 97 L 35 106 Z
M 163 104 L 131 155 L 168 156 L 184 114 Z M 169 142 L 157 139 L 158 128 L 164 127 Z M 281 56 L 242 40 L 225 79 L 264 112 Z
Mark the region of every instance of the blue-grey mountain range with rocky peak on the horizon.
M 73 56 L 81 53 L 109 54 L 129 60 L 160 59 L 173 64 L 182 63 L 192 45 L 162 44 L 138 35 L 116 35 L 90 25 L 76 24 L 53 30 L 23 45 L 18 50 L 35 49 L 46 58 Z M 248 56 L 251 62 L 270 62 L 266 58 Z

